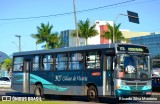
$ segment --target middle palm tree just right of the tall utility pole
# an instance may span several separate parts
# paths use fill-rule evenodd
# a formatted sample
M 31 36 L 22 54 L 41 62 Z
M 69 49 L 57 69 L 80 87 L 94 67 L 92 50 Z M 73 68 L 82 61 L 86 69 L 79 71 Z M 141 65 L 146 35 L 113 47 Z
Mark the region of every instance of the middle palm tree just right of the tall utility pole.
M 88 44 L 88 38 L 94 37 L 98 35 L 98 31 L 95 29 L 96 24 L 90 26 L 90 21 L 87 19 L 86 21 L 80 20 L 78 23 L 78 35 L 81 38 L 86 39 L 86 45 Z M 72 33 L 72 36 L 76 36 L 76 31 Z

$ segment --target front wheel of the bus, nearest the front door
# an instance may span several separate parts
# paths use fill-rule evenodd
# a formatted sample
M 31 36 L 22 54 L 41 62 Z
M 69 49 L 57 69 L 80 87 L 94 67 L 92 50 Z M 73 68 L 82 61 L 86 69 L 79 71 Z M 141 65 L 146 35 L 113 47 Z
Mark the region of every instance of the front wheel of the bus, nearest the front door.
M 89 86 L 87 90 L 87 97 L 91 102 L 98 102 L 98 93 L 97 89 L 94 86 Z

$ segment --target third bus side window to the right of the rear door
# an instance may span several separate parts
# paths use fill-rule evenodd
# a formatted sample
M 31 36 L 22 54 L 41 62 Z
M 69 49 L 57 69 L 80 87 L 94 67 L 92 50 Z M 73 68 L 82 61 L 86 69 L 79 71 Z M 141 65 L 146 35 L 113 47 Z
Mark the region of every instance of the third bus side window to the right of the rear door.
M 67 70 L 67 54 L 56 55 L 56 70 Z

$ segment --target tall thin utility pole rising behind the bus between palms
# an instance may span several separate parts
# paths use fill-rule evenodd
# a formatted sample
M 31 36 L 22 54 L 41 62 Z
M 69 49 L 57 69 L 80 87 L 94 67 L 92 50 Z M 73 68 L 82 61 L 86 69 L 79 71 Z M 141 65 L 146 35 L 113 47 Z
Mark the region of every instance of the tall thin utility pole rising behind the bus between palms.
M 73 0 L 73 6 L 74 6 L 74 20 L 75 20 L 76 35 L 77 35 L 76 46 L 79 46 L 79 36 L 78 36 L 78 26 L 77 26 L 77 16 L 76 16 L 76 0 Z

